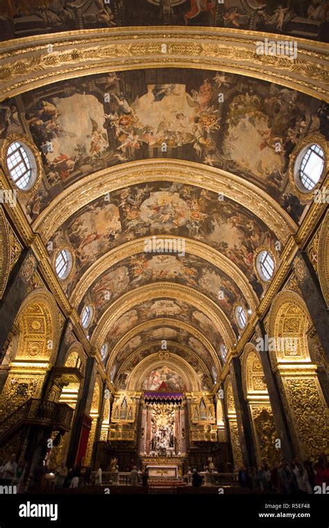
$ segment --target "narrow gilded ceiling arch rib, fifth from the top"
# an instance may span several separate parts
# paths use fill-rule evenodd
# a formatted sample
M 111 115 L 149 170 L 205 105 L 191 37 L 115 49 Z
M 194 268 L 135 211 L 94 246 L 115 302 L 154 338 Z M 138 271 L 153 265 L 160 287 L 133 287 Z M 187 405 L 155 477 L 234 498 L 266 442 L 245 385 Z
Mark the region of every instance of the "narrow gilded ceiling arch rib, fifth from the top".
M 153 327 L 158 327 L 158 326 L 177 327 L 179 329 L 183 329 L 183 330 L 188 331 L 189 333 L 191 333 L 208 350 L 210 356 L 212 357 L 212 360 L 214 361 L 214 365 L 216 365 L 217 369 L 219 369 L 219 371 L 220 371 L 221 364 L 219 363 L 219 358 L 218 358 L 218 356 L 216 354 L 216 351 L 215 351 L 214 347 L 208 341 L 208 339 L 205 338 L 205 336 L 203 336 L 203 334 L 201 332 L 199 332 L 199 330 L 195 329 L 194 327 L 192 327 L 190 324 L 188 324 L 186 322 L 178 321 L 176 319 L 170 319 L 168 317 L 160 317 L 159 319 L 153 319 L 151 321 L 146 321 L 146 322 L 143 322 L 141 324 L 138 324 L 136 327 L 134 327 L 133 329 L 128 331 L 118 341 L 118 343 L 115 345 L 115 347 L 113 347 L 112 351 L 110 352 L 110 356 L 108 357 L 108 363 L 106 365 L 106 372 L 110 371 L 110 368 L 111 368 L 111 366 L 113 364 L 113 361 L 115 360 L 117 354 L 119 353 L 121 348 L 124 347 L 126 345 L 126 343 L 128 343 L 128 341 L 131 338 L 133 338 L 133 336 L 135 336 L 137 333 L 142 332 L 145 329 L 152 329 Z

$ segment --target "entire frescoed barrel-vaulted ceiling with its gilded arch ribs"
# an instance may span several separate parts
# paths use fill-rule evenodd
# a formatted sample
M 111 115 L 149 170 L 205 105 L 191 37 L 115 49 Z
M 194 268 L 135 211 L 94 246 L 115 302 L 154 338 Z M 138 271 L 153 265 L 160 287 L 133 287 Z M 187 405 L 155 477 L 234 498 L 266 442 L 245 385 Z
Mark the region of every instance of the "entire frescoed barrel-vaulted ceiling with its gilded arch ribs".
M 236 41 L 255 40 L 253 30 L 323 41 L 327 13 L 328 2 L 301 0 L 232 0 L 225 7 L 24 0 L 4 2 L 0 27 L 7 40 L 39 35 L 35 53 L 56 47 L 60 32 L 79 30 L 87 39 L 85 30 L 104 28 L 102 38 L 116 38 L 119 26 L 151 24 L 233 28 Z M 19 45 L 13 42 L 8 49 Z M 35 77 L 29 86 L 30 69 L 56 69 L 49 49 L 49 65 L 17 65 L 22 80 L 5 87 L 13 95 L 0 106 L 1 143 L 26 135 L 42 161 L 19 204 L 54 270 L 58 251 L 70 252 L 72 270 L 60 286 L 79 315 L 92 306 L 85 333 L 99 349 L 106 344 L 104 365 L 117 388 L 166 340 L 211 389 L 223 365 L 221 345 L 233 348 L 242 334 L 236 307 L 251 315 L 271 283 L 257 272 L 258 251 L 267 249 L 278 270 L 310 208 L 311 197 L 294 184 L 292 158 L 305 138 L 328 140 L 328 104 L 297 81 L 294 90 L 287 79 L 271 82 L 269 71 L 235 70 L 234 58 L 221 69 L 215 57 L 209 69 L 188 58 L 173 67 L 164 57 L 157 67 L 123 62 L 94 73 L 87 52 L 76 53 L 81 75 L 66 69 L 52 82 L 45 69 L 44 82 Z M 153 240 L 160 245 L 149 251 Z M 161 241 L 178 244 L 176 251 Z

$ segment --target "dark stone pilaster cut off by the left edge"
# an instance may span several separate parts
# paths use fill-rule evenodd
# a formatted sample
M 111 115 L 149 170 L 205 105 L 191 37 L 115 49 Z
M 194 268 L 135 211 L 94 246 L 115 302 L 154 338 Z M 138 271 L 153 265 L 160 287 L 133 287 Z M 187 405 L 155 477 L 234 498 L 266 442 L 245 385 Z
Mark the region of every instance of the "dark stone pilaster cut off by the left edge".
M 36 270 L 37 258 L 32 249 L 24 249 L 10 273 L 6 291 L 0 301 L 0 352 L 19 308 L 28 295 L 28 286 Z

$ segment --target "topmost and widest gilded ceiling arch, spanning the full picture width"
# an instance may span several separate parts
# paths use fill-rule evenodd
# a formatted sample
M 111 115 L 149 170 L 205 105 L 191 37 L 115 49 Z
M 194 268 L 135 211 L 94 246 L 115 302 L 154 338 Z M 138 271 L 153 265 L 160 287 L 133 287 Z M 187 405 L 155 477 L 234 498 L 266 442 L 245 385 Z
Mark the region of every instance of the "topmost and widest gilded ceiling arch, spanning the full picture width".
M 259 40 L 297 42 L 298 56 L 256 53 Z M 49 44 L 53 51 L 48 52 Z M 166 53 L 163 52 L 166 44 Z M 232 72 L 329 101 L 326 44 L 271 33 L 179 26 L 103 28 L 33 36 L 2 43 L 1 100 L 63 79 L 152 67 Z

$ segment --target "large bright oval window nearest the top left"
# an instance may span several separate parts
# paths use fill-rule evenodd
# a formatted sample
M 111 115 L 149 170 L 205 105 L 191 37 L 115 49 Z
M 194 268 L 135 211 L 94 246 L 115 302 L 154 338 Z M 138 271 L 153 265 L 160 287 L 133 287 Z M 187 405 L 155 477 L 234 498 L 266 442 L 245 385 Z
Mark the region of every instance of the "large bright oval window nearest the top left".
M 35 182 L 35 158 L 24 143 L 15 141 L 7 149 L 7 167 L 12 181 L 19 189 L 31 189 Z

